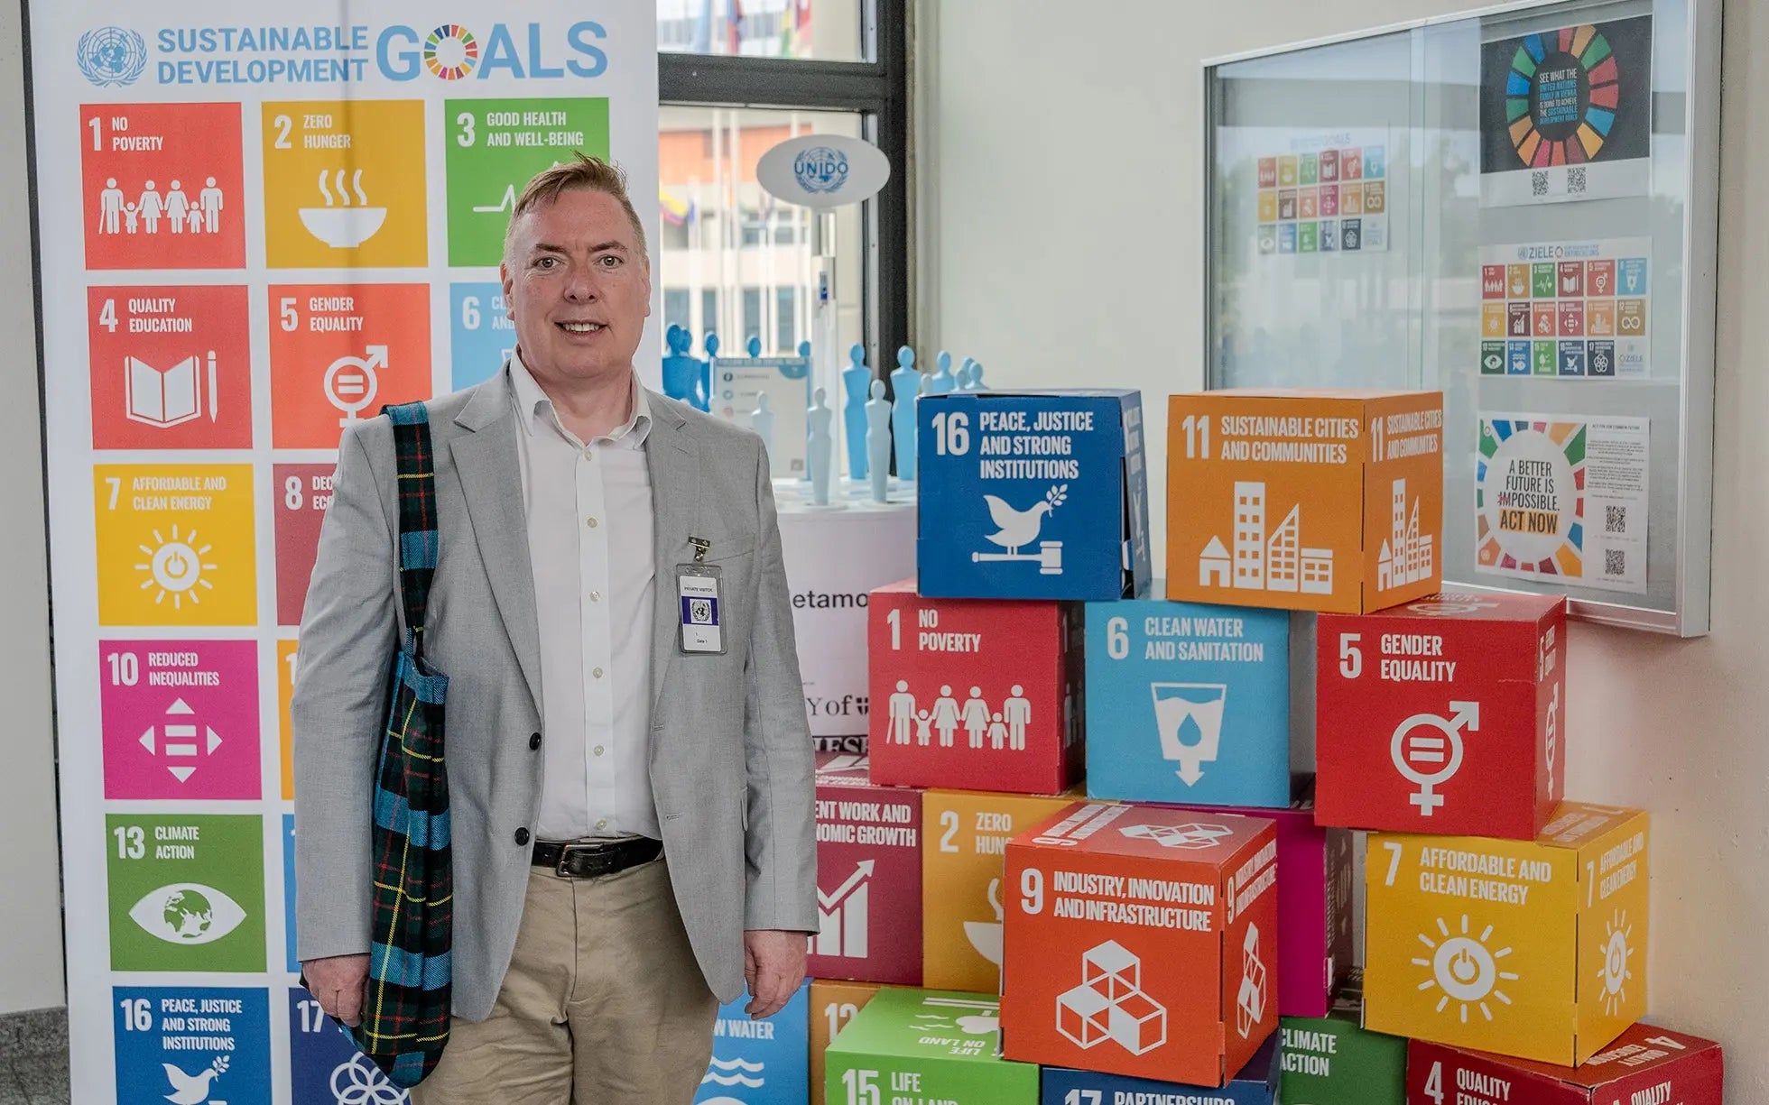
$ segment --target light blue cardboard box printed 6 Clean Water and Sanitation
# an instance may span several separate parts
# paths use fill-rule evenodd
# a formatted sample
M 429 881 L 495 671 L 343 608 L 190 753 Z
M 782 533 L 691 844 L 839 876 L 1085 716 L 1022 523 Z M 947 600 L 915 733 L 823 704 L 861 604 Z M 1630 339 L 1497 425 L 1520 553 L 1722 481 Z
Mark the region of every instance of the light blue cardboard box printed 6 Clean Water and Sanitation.
M 1088 797 L 1290 804 L 1290 613 L 1086 603 Z

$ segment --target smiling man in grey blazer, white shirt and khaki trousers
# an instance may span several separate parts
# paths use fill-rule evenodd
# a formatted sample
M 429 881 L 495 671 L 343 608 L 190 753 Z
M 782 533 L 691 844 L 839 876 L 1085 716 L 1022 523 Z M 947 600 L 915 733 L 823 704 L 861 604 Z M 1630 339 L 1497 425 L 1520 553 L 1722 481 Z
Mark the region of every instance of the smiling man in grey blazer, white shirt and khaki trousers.
M 430 403 L 425 652 L 449 677 L 455 988 L 419 1105 L 685 1105 L 716 1002 L 747 983 L 748 1013 L 775 1013 L 817 928 L 768 458 L 639 384 L 644 237 L 612 166 L 578 156 L 536 177 L 504 249 L 517 354 Z M 375 417 L 338 447 L 292 704 L 297 955 L 345 1024 L 368 972 L 396 536 Z M 720 651 L 683 629 L 681 591 L 709 576 Z

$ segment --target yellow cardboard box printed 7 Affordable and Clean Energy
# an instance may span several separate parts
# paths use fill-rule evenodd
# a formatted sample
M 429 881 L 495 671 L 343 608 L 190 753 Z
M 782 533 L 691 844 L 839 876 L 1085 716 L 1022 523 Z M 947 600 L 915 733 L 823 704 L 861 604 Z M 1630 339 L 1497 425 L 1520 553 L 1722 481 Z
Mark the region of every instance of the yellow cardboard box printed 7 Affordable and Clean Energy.
M 1373 833 L 1364 872 L 1364 1027 L 1576 1066 L 1645 1011 L 1640 810 L 1562 803 L 1535 840 Z

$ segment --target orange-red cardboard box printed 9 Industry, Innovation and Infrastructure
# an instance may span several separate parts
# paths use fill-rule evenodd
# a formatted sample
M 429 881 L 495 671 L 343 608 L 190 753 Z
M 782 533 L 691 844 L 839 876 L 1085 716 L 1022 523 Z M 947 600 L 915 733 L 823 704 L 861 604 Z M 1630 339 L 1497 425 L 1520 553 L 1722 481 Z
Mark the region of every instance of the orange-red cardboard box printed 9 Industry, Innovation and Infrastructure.
M 1008 1059 L 1222 1086 L 1277 1027 L 1270 820 L 1083 803 L 1007 845 Z

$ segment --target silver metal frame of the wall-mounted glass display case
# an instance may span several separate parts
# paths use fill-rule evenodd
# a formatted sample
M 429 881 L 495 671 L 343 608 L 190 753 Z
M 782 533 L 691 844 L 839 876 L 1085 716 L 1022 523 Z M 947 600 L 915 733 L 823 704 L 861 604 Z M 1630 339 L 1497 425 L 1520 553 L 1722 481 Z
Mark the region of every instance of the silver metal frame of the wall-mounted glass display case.
M 1684 101 L 1682 133 L 1688 143 L 1684 163 L 1684 253 L 1682 253 L 1682 341 L 1679 371 L 1679 454 L 1677 454 L 1677 534 L 1675 534 L 1675 608 L 1615 601 L 1571 598 L 1573 617 L 1589 622 L 1647 629 L 1675 636 L 1704 636 L 1711 619 L 1711 555 L 1714 514 L 1714 299 L 1718 283 L 1719 246 L 1719 34 L 1721 0 L 1686 0 L 1688 53 L 1684 57 L 1688 95 Z M 1215 164 L 1215 71 L 1235 62 L 1298 53 L 1320 46 L 1357 42 L 1382 35 L 1408 34 L 1428 27 L 1477 21 L 1489 16 L 1509 16 L 1532 11 L 1564 9 L 1576 12 L 1590 7 L 1590 0 L 1521 0 L 1489 7 L 1467 9 L 1445 16 L 1431 16 L 1405 23 L 1364 28 L 1346 34 L 1290 42 L 1265 50 L 1206 58 L 1201 65 L 1203 83 L 1203 194 L 1205 203 L 1205 387 L 1219 387 L 1215 378 L 1217 320 L 1214 315 L 1217 240 L 1214 230 L 1214 196 L 1217 187 Z M 1654 4 L 1654 9 L 1658 5 Z M 1654 16 L 1658 12 L 1654 11 Z M 1452 509 L 1445 497 L 1445 511 Z M 1474 580 L 1444 580 L 1445 587 L 1470 591 L 1523 591 Z

